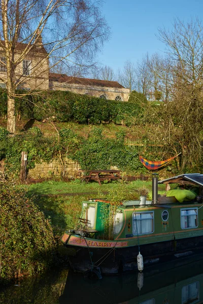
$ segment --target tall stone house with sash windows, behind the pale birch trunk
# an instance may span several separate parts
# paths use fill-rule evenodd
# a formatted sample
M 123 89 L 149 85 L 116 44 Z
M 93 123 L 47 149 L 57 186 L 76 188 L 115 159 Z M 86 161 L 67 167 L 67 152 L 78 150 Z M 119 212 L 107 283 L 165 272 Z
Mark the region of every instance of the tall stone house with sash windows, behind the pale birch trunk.
M 3 46 L 4 41 L 0 43 L 0 87 L 6 88 L 7 67 L 6 57 Z M 14 60 L 19 59 L 19 64 L 15 69 L 15 81 L 19 83 L 18 89 L 26 90 L 48 90 L 49 88 L 49 58 L 47 51 L 43 47 L 42 37 L 28 52 L 26 57 L 21 60 L 20 56 L 26 49 L 27 44 L 18 43 Z M 4 82 L 3 82 L 4 81 Z

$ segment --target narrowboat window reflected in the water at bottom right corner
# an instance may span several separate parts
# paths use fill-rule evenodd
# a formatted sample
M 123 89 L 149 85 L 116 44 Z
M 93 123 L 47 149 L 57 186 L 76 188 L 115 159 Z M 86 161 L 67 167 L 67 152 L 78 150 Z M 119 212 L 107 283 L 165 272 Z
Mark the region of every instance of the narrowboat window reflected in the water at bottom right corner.
M 199 300 L 199 282 L 183 286 L 182 304 L 192 304 Z

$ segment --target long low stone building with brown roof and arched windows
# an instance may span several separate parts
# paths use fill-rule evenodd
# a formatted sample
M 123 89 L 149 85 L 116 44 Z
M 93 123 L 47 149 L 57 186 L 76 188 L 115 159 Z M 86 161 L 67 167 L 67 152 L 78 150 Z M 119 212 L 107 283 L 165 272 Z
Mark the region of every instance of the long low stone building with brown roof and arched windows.
M 104 99 L 128 101 L 130 90 L 117 81 L 71 77 L 66 74 L 50 73 L 49 89 L 72 91 Z

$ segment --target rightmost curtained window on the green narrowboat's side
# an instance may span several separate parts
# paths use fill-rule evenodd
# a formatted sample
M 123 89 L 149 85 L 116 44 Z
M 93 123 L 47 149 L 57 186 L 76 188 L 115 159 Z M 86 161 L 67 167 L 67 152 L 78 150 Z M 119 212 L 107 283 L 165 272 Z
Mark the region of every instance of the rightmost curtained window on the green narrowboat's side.
M 197 226 L 197 208 L 181 209 L 181 228 L 187 229 Z

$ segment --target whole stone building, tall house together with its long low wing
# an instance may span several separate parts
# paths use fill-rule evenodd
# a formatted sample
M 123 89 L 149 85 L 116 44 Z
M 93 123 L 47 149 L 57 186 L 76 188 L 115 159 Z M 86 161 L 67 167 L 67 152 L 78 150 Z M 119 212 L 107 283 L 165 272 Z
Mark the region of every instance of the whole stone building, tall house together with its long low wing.
M 4 53 L 4 41 L 0 41 L 0 87 L 6 88 L 7 67 Z M 15 70 L 15 81 L 18 89 L 25 90 L 63 90 L 79 94 L 87 94 L 104 99 L 128 101 L 129 89 L 124 88 L 116 81 L 106 81 L 79 77 L 70 77 L 66 74 L 49 72 L 49 55 L 45 50 L 40 36 L 37 44 L 22 60 L 21 54 L 27 44 L 18 43 L 15 61 L 19 64 Z

